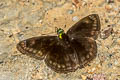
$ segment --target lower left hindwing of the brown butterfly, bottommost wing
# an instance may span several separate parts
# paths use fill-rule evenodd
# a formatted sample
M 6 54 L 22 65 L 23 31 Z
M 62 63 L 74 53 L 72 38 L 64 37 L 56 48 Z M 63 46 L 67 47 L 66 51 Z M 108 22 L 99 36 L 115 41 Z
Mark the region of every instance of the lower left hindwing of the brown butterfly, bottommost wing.
M 45 59 L 48 67 L 60 73 L 75 71 L 79 66 L 76 52 L 70 44 L 65 43 L 58 41 L 53 44 Z

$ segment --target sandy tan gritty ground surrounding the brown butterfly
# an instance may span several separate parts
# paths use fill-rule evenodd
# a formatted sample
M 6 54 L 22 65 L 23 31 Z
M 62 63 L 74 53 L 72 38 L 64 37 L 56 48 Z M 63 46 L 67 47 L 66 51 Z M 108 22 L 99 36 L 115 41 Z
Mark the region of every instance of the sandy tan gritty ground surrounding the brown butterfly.
M 0 0 L 0 80 L 120 80 L 119 0 Z M 74 2 L 74 5 L 72 4 Z M 77 6 L 76 6 L 77 5 Z M 79 7 L 79 8 L 78 8 Z M 23 39 L 67 31 L 79 19 L 97 13 L 101 28 L 111 25 L 113 34 L 96 40 L 98 55 L 89 66 L 69 74 L 50 70 L 43 61 L 21 54 Z

